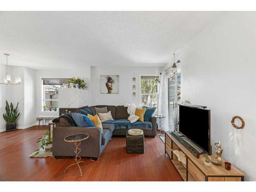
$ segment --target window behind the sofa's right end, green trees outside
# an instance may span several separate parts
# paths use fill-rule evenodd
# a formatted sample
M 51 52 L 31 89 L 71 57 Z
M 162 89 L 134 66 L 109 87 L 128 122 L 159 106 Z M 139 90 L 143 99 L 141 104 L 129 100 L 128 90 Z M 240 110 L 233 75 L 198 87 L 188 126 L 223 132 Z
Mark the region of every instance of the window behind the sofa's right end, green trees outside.
M 156 79 L 159 76 L 142 75 L 140 76 L 140 104 L 158 106 L 158 86 Z

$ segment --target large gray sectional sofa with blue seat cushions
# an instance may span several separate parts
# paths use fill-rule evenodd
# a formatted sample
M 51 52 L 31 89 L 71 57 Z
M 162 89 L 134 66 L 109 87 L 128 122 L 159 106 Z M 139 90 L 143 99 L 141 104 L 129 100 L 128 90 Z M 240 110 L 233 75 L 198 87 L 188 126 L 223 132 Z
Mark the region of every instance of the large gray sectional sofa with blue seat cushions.
M 89 138 L 81 142 L 80 149 L 81 157 L 91 157 L 97 160 L 104 150 L 106 144 L 110 141 L 112 136 L 125 136 L 126 131 L 129 129 L 142 129 L 144 136 L 155 137 L 157 131 L 157 121 L 155 117 L 152 117 L 150 122 L 135 122 L 131 123 L 127 118 L 127 108 L 124 106 L 114 105 L 95 105 L 89 106 L 86 109 L 82 109 L 78 113 L 84 113 L 90 111 L 91 115 L 95 115 L 94 108 L 105 107 L 108 111 L 111 111 L 113 121 L 102 122 L 103 133 L 99 127 L 79 127 L 71 126 L 65 118 L 59 118 L 56 122 L 56 126 L 53 129 L 53 156 L 55 158 L 74 156 L 74 145 L 64 141 L 64 138 L 68 135 L 86 133 L 89 134 Z

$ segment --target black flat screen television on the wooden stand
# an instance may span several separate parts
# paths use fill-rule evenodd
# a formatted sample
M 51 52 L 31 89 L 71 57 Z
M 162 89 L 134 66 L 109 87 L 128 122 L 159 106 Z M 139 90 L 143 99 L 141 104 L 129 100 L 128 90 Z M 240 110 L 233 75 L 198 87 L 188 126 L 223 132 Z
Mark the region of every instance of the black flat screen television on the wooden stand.
M 179 115 L 179 132 L 210 155 L 210 110 L 180 105 Z

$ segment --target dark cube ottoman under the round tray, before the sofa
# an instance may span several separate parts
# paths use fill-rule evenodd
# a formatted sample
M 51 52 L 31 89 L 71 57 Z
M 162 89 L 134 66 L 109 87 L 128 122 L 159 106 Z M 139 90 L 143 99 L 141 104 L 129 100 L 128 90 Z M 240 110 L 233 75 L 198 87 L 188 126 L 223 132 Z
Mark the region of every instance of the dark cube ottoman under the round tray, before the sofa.
M 144 134 L 132 136 L 126 132 L 126 153 L 144 153 Z

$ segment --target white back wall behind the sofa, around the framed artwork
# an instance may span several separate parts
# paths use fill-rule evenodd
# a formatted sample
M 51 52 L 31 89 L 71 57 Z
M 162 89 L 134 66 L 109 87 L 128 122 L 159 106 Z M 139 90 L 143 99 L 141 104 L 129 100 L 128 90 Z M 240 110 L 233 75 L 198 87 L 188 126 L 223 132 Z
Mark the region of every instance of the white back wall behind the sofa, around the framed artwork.
M 162 68 L 158 68 L 160 72 Z M 132 96 L 132 78 L 136 77 L 136 98 Z M 91 105 L 139 104 L 139 75 L 156 74 L 156 67 L 91 67 Z M 100 93 L 100 75 L 119 75 L 119 94 Z

